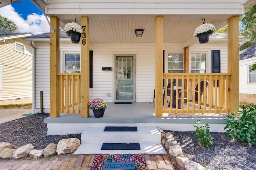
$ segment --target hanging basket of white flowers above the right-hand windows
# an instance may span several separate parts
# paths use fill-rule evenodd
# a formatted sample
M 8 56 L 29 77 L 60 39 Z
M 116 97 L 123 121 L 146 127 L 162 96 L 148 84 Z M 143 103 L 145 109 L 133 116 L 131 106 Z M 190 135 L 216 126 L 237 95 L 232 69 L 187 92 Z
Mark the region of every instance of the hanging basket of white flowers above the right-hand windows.
M 212 33 L 216 31 L 216 28 L 211 23 L 204 23 L 196 28 L 194 37 L 198 37 L 199 42 L 202 43 L 208 43 L 209 37 Z

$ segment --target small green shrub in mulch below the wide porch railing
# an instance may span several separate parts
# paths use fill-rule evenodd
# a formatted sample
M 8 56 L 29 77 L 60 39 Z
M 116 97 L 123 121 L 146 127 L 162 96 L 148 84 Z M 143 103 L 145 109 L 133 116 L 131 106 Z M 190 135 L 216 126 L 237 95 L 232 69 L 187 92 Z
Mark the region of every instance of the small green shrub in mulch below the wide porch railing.
M 209 132 L 210 126 L 208 123 L 205 125 L 200 126 L 200 120 L 196 122 L 198 125 L 196 127 L 196 133 L 194 134 L 195 137 L 198 138 L 198 143 L 204 147 L 210 148 L 212 146 L 212 140 L 214 139 L 211 137 L 212 132 Z

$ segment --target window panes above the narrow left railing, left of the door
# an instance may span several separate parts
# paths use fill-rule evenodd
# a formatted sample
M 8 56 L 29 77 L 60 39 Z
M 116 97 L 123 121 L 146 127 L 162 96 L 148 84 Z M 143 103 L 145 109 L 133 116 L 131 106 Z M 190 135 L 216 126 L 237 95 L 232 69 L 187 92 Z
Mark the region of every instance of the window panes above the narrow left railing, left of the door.
M 80 53 L 64 53 L 64 73 L 80 73 Z

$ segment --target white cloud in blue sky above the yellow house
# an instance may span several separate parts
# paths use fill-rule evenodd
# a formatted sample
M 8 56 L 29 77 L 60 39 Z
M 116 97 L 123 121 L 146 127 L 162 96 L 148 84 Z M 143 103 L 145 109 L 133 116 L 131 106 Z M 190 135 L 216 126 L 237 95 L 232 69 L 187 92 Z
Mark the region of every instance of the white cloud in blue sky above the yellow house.
M 44 14 L 32 13 L 27 16 L 27 20 L 24 20 L 11 5 L 8 5 L 0 8 L 0 15 L 14 21 L 20 33 L 33 33 L 35 35 L 50 31 L 50 26 Z

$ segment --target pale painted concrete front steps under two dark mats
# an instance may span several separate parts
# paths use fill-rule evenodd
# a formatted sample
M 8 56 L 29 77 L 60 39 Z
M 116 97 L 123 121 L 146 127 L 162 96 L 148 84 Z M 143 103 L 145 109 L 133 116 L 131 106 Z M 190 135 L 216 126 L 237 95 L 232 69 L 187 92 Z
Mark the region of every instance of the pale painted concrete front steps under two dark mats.
M 104 129 L 105 126 L 86 127 L 81 134 L 81 145 L 74 154 L 166 154 L 157 127 L 137 126 L 135 132 L 104 132 Z M 139 143 L 140 150 L 101 150 L 103 143 Z

